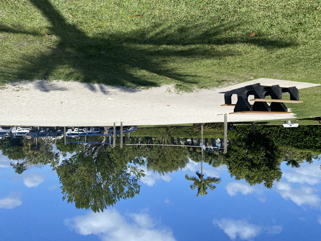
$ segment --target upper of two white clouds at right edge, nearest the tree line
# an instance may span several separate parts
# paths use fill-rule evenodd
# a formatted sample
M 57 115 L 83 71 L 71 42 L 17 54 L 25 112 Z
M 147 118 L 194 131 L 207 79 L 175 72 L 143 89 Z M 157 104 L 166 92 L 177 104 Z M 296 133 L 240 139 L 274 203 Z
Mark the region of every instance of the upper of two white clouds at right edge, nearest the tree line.
M 285 172 L 282 177 L 285 177 L 291 183 L 308 183 L 314 185 L 321 182 L 321 170 L 319 163 L 307 164 L 304 163 L 300 168 L 291 168 L 290 172 Z

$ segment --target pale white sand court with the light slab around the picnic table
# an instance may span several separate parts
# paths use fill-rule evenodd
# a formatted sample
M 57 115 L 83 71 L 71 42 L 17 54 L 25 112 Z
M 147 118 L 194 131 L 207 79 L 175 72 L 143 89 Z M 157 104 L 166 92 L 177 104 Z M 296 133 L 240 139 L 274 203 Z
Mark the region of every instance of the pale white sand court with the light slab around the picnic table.
M 176 94 L 172 86 L 136 90 L 78 82 L 19 82 L 1 90 L 0 125 L 12 126 L 111 126 L 170 125 L 222 122 L 234 107 L 224 104 L 224 94 L 245 85 L 297 86 L 317 84 L 260 78 L 216 90 Z M 233 102 L 234 101 L 234 102 Z M 236 99 L 232 98 L 232 103 Z M 300 104 L 300 103 L 298 103 Z M 228 121 L 295 118 L 293 114 L 228 115 Z

